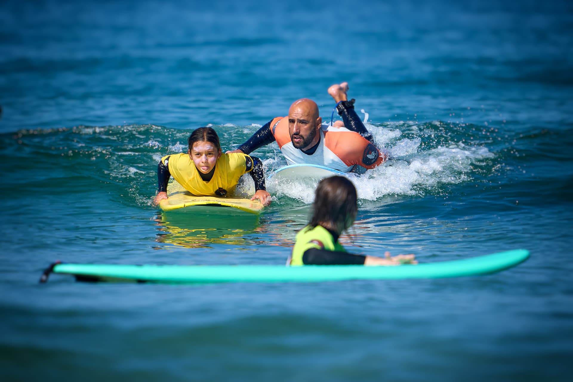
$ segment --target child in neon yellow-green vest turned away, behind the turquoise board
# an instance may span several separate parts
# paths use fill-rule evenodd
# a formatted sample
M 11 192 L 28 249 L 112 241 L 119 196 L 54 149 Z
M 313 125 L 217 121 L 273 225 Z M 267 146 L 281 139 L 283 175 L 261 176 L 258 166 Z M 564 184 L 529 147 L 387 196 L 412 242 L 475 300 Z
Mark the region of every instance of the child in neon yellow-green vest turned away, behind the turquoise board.
M 344 176 L 332 176 L 316 187 L 313 213 L 308 226 L 296 235 L 296 243 L 287 264 L 290 265 L 401 265 L 417 264 L 414 255 L 384 257 L 347 253 L 338 242 L 358 213 L 356 188 Z

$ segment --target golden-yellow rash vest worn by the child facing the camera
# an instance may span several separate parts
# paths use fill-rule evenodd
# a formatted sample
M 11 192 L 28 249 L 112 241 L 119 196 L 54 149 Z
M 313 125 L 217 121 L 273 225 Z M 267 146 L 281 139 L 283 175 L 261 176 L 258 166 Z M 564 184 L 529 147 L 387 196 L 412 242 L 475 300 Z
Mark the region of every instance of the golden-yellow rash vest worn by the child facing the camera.
M 234 152 L 222 154 L 215 163 L 215 172 L 209 182 L 201 179 L 199 170 L 187 153 L 167 155 L 161 158 L 169 158 L 167 167 L 173 179 L 175 179 L 185 190 L 196 196 L 221 196 L 233 194 L 239 178 L 246 172 L 246 157 L 248 155 Z M 250 171 L 250 170 L 249 170 Z M 221 190 L 225 190 L 222 192 Z M 215 193 L 215 191 L 218 191 Z

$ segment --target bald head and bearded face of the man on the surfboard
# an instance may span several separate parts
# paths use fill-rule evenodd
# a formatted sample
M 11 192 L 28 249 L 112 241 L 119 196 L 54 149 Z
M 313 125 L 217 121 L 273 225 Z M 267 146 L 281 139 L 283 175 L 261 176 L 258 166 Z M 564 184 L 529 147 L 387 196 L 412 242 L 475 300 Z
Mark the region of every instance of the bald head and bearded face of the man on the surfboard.
M 317 119 L 309 105 L 294 105 L 288 113 L 288 132 L 295 148 L 309 149 L 318 141 L 320 117 Z

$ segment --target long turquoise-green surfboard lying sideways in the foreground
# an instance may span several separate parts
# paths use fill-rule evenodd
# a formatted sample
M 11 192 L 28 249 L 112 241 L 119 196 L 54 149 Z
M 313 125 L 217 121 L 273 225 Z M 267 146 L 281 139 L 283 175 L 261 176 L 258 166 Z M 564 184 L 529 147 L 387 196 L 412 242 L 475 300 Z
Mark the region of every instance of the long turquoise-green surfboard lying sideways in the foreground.
M 216 283 L 318 282 L 354 279 L 441 278 L 489 274 L 515 266 L 529 257 L 523 249 L 472 258 L 399 266 L 363 265 L 100 265 L 54 263 L 42 274 L 68 274 L 78 281 Z

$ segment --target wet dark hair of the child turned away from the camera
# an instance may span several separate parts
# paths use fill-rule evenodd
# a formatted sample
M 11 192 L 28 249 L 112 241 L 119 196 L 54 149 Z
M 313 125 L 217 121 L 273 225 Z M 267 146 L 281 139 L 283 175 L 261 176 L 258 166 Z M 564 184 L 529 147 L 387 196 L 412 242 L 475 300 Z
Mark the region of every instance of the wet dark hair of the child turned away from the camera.
M 342 232 L 352 225 L 358 213 L 356 188 L 344 176 L 331 176 L 321 180 L 316 187 L 315 202 L 309 225 L 316 227 L 327 223 Z

